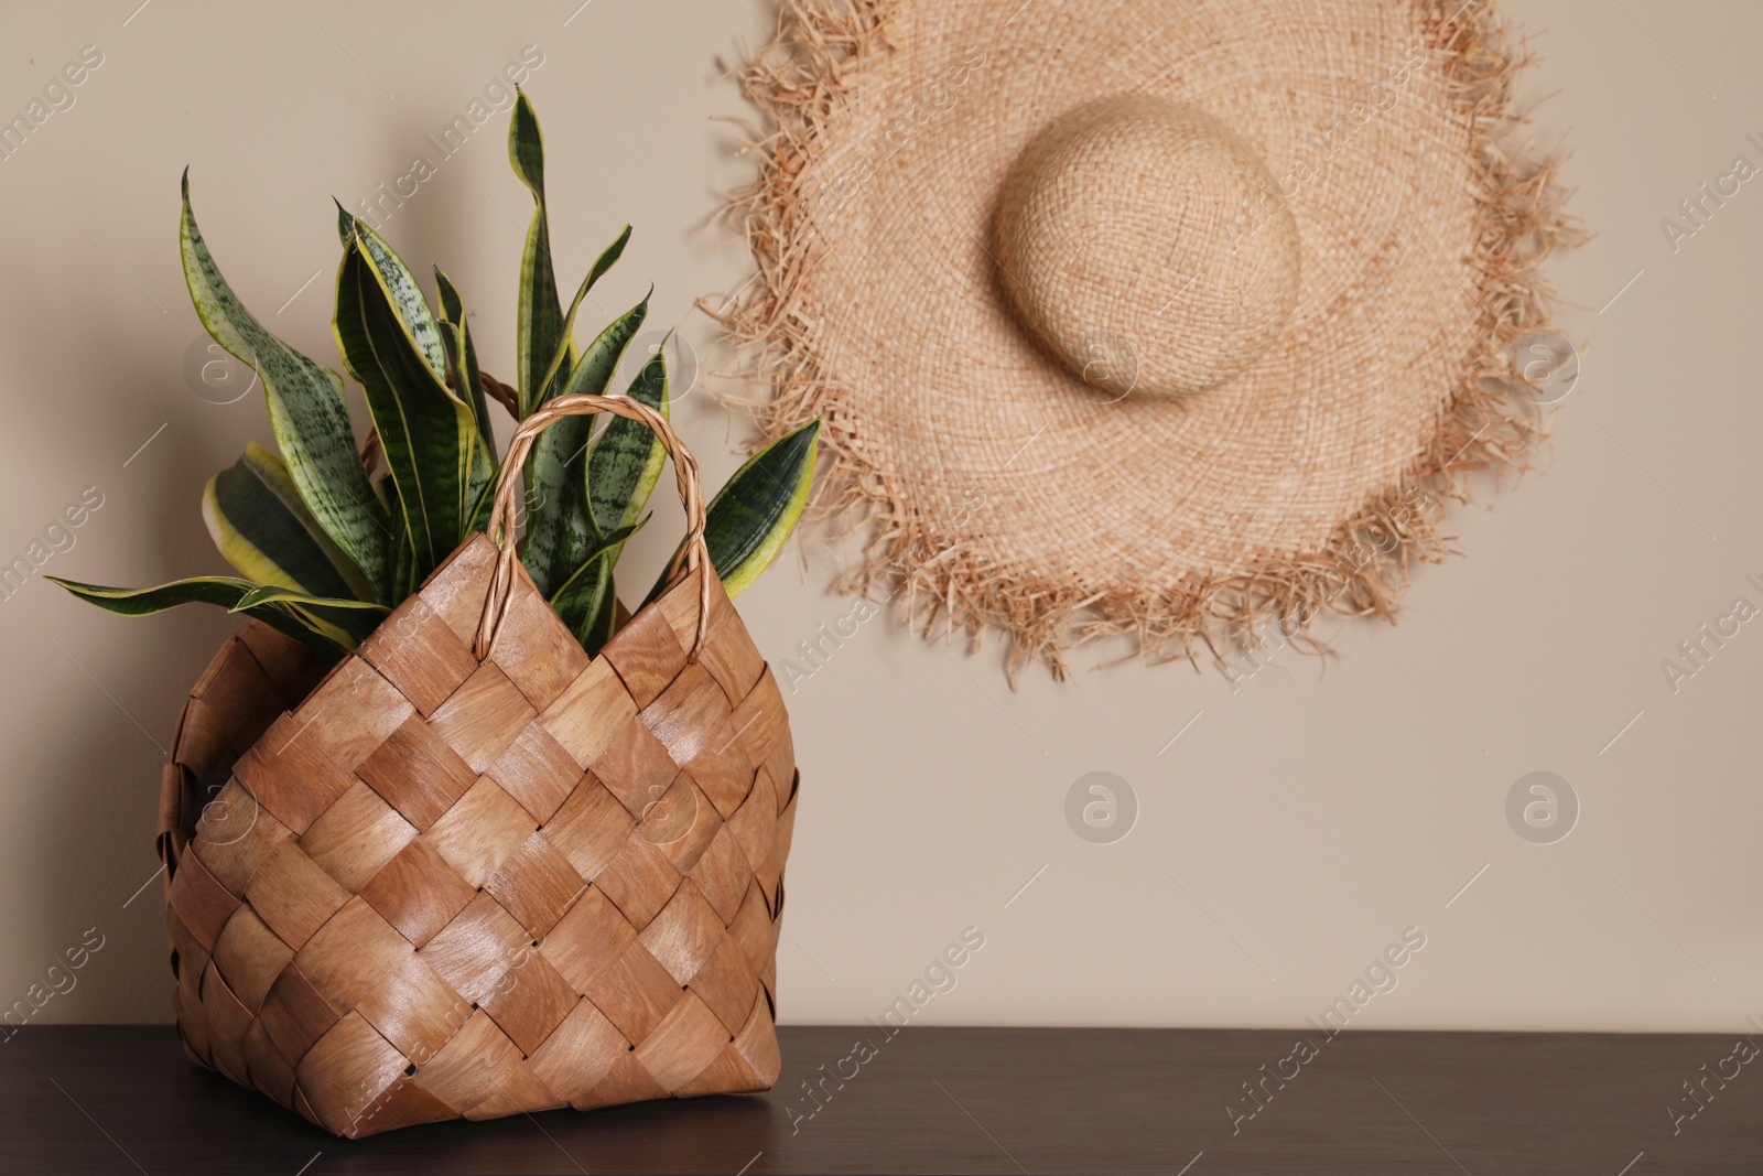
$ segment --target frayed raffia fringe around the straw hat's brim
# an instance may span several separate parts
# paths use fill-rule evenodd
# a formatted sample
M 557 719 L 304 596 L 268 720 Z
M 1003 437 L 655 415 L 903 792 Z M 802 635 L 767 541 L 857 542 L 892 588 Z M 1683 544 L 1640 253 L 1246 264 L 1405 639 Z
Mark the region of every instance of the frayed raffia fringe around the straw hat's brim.
M 906 626 L 924 636 L 964 631 L 977 647 L 987 628 L 1003 629 L 1014 642 L 1012 686 L 1028 659 L 1063 679 L 1065 652 L 1093 640 L 1128 636 L 1141 659 L 1186 658 L 1195 666 L 1204 647 L 1222 668 L 1220 644 L 1253 651 L 1285 640 L 1326 652 L 1308 635 L 1322 612 L 1395 621 L 1412 564 L 1449 554 L 1439 529 L 1446 502 L 1470 499 L 1472 473 L 1490 471 L 1499 485 L 1504 473 L 1525 471 L 1546 443 L 1536 409 L 1500 390 L 1511 376 L 1502 353 L 1518 337 L 1550 328 L 1551 289 L 1539 268 L 1557 249 L 1585 240 L 1564 212 L 1571 192 L 1557 183 L 1560 159 L 1534 157 L 1518 141 L 1527 116 L 1514 109 L 1513 76 L 1532 58 L 1511 39 L 1493 0 L 1412 0 L 1426 44 L 1446 55 L 1446 78 L 1474 127 L 1481 197 L 1474 266 L 1486 330 L 1463 358 L 1462 386 L 1409 474 L 1372 495 L 1319 552 L 1269 555 L 1246 575 L 1174 589 L 1090 596 L 1024 582 L 940 536 L 864 451 L 862 425 L 816 353 L 816 310 L 804 305 L 802 291 L 813 272 L 813 234 L 800 231 L 799 183 L 852 79 L 890 51 L 887 14 L 896 2 L 785 0 L 777 46 L 786 53 L 760 55 L 740 72 L 746 95 L 772 120 L 767 138 L 746 143 L 762 159 L 760 176 L 728 208 L 746 231 L 758 275 L 733 305 L 705 305 L 737 347 L 749 383 L 770 390 L 758 400 L 728 397 L 756 416 L 767 439 L 825 418 L 822 446 L 832 460 L 813 508 L 822 517 L 855 508 L 846 515 L 855 518 L 852 531 L 869 529 L 862 564 L 834 587 L 892 599 Z

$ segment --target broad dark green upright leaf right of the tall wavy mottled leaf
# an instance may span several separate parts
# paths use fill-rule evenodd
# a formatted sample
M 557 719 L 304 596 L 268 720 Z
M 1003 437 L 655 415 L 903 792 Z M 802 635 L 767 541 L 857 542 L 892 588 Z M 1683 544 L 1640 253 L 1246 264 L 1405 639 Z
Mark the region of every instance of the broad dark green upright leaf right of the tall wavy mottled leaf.
M 337 344 L 386 451 L 421 582 L 465 536 L 474 450 L 471 406 L 427 365 L 393 307 L 391 291 L 360 236 L 337 270 Z

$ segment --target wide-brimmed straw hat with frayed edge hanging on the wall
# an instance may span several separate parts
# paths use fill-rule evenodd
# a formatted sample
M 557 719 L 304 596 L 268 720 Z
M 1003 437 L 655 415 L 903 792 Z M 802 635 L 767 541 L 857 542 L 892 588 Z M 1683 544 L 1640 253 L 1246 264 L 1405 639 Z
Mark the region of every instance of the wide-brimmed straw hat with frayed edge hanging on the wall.
M 725 309 L 825 414 L 844 585 L 1061 672 L 1393 615 L 1571 238 L 1484 0 L 795 0 Z

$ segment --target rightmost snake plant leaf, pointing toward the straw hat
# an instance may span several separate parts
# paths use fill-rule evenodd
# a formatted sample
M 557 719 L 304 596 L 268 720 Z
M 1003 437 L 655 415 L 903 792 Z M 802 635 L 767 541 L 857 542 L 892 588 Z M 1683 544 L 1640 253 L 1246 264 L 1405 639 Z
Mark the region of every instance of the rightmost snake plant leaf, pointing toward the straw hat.
M 783 550 L 807 504 L 818 448 L 816 418 L 749 457 L 710 499 L 703 543 L 730 598 L 740 596 Z M 663 587 L 665 568 L 649 599 L 659 596 Z

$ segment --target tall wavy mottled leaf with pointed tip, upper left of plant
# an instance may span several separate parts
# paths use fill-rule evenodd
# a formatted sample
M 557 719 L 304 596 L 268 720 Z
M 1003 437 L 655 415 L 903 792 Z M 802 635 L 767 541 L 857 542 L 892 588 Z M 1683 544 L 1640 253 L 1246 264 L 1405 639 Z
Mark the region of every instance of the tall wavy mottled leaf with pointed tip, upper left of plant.
M 300 501 L 384 599 L 393 569 L 388 520 L 361 471 L 342 377 L 264 330 L 233 294 L 196 227 L 189 169 L 178 238 L 197 317 L 217 344 L 249 363 L 263 381 L 275 444 Z

